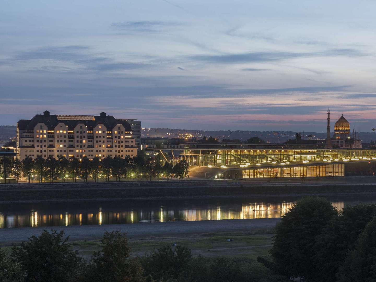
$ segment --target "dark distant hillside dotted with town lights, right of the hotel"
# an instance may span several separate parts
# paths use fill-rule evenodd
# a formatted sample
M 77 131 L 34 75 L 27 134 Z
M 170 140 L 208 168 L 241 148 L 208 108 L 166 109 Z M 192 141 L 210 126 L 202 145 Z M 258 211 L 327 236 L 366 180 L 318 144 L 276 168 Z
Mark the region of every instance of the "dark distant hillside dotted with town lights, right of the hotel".
M 303 132 L 302 138 L 308 139 L 308 135 L 314 138 L 326 138 L 326 132 Z M 296 131 L 249 131 L 249 130 L 191 130 L 191 129 L 170 129 L 170 128 L 143 128 L 141 137 L 168 137 L 168 138 L 186 138 L 195 136 L 213 136 L 219 140 L 222 139 L 240 139 L 245 141 L 250 137 L 259 137 L 269 143 L 284 143 L 288 139 L 295 139 Z M 331 133 L 333 135 L 334 132 Z M 361 132 L 360 137 L 363 143 L 369 143 L 376 140 L 376 132 Z

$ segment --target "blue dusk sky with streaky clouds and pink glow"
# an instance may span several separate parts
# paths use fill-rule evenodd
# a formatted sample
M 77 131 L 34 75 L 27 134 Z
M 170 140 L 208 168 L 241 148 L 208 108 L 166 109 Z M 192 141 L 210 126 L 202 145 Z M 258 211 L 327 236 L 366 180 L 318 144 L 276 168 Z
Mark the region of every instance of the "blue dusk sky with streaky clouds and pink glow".
M 0 125 L 51 114 L 142 127 L 376 126 L 376 1 L 2 0 Z

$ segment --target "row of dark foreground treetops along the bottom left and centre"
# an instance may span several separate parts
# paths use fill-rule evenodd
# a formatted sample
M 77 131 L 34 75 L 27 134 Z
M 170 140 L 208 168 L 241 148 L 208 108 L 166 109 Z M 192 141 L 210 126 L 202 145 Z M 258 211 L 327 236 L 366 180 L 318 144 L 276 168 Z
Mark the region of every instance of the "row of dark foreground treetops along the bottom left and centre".
M 130 258 L 125 233 L 105 232 L 90 260 L 71 250 L 64 232 L 44 232 L 14 247 L 0 249 L 2 282 L 286 282 L 244 258 L 193 257 L 184 246 L 164 246 L 150 255 Z

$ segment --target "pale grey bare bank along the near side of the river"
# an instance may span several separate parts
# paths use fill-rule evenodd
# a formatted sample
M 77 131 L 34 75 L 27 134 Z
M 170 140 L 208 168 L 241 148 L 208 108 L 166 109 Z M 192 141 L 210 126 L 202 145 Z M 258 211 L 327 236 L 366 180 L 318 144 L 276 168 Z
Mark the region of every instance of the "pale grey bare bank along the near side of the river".
M 112 230 L 127 232 L 128 238 L 186 237 L 213 232 L 255 232 L 259 229 L 272 229 L 280 218 L 175 221 L 161 223 L 134 223 L 82 226 L 22 227 L 0 229 L 0 245 L 9 246 L 27 240 L 31 235 L 40 235 L 43 230 L 64 230 L 70 241 L 98 240 L 103 233 Z

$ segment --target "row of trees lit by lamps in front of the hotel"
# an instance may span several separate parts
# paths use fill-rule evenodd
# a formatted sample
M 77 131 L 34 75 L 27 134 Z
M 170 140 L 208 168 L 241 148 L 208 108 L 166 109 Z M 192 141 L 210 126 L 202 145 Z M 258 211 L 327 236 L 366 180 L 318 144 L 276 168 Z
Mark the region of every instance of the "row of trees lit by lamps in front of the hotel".
M 133 158 L 107 156 L 103 159 L 83 157 L 82 159 L 70 158 L 69 160 L 64 157 L 43 159 L 40 156 L 35 159 L 26 157 L 23 160 L 0 158 L 0 175 L 5 183 L 9 177 L 14 177 L 17 182 L 21 178 L 26 179 L 29 183 L 32 179 L 37 179 L 39 182 L 54 182 L 59 179 L 61 182 L 65 182 L 68 178 L 74 182 L 77 181 L 77 178 L 84 182 L 87 182 L 89 178 L 94 181 L 99 181 L 99 179 L 110 181 L 111 177 L 116 181 L 137 178 L 152 180 L 152 178 L 160 179 L 161 177 L 171 180 L 173 177 L 184 179 L 188 176 L 188 167 L 185 160 L 173 165 L 158 158 L 143 156 Z

